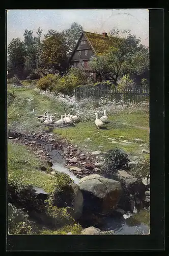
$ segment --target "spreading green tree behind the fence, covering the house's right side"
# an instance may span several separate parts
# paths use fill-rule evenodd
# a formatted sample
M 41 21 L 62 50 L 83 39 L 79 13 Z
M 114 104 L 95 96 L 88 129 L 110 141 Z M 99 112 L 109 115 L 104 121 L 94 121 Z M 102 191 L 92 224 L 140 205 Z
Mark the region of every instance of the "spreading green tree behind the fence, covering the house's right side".
M 149 68 L 149 51 L 140 44 L 140 38 L 137 39 L 127 30 L 114 30 L 108 38 L 110 43 L 108 52 L 102 58 L 95 57 L 91 61 L 97 63 L 98 71 L 105 73 L 115 86 L 118 79 L 125 74 L 139 75 Z M 93 63 L 90 63 L 90 67 L 93 71 L 97 71 Z

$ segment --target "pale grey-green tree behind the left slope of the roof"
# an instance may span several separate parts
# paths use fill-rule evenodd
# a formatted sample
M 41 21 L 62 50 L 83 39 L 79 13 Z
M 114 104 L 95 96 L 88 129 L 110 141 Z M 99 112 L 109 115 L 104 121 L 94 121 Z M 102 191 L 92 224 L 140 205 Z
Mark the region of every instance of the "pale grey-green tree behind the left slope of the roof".
M 82 31 L 82 26 L 77 24 L 76 22 L 73 22 L 70 28 L 65 30 L 66 44 L 68 46 L 68 55 L 72 53 Z

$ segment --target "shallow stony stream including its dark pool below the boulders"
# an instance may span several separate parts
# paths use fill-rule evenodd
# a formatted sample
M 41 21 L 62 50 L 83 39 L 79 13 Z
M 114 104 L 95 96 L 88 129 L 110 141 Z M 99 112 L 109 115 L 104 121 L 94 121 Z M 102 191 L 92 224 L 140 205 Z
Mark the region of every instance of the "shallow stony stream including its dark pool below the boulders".
M 52 172 L 58 170 L 68 174 L 74 183 L 90 174 L 100 173 L 103 156 L 99 151 L 83 153 L 77 145 L 71 145 L 66 140 L 53 139 L 52 134 L 17 134 L 9 133 L 8 139 L 27 146 L 27 150 L 34 151 L 39 157 L 51 163 Z M 51 175 L 52 175 L 51 172 Z M 147 215 L 146 210 L 140 211 L 142 219 Z M 148 234 L 149 225 L 138 221 L 138 214 L 127 212 L 124 215 L 101 217 L 102 231 L 114 230 L 117 234 Z M 135 218 L 137 216 L 137 218 Z M 146 218 L 146 217 L 145 217 Z

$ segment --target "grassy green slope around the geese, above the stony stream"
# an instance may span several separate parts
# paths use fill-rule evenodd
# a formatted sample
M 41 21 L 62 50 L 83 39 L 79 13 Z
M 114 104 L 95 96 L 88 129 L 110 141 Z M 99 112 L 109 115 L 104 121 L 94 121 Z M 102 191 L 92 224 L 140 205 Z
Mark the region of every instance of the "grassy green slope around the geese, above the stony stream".
M 44 125 L 39 123 L 35 114 L 43 114 L 46 110 L 57 117 L 65 113 L 64 106 L 58 105 L 54 100 L 46 96 L 37 94 L 33 89 L 15 89 L 14 94 L 17 96 L 8 108 L 9 127 L 19 127 L 20 130 L 41 131 Z M 33 99 L 27 101 L 27 99 Z M 35 109 L 35 113 L 33 113 Z M 100 150 L 105 151 L 116 146 L 123 148 L 127 153 L 139 154 L 142 148 L 149 147 L 149 115 L 147 113 L 120 113 L 108 117 L 111 121 L 107 124 L 108 130 L 97 130 L 93 122 L 79 122 L 75 127 L 65 129 L 55 129 L 54 133 L 67 138 L 69 141 L 83 147 L 87 151 Z M 141 129 L 139 126 L 142 126 Z M 98 133 L 99 132 L 99 133 Z M 104 137 L 105 136 L 105 137 Z M 107 137 L 106 137 L 107 136 Z M 124 138 L 120 138 L 124 136 Z M 85 141 L 90 138 L 92 141 Z M 108 138 L 115 138 L 118 143 L 110 143 Z M 144 142 L 136 142 L 134 138 L 143 139 Z M 132 144 L 122 145 L 120 140 L 135 142 Z M 144 146 L 139 145 L 143 143 Z M 88 147 L 84 147 L 88 145 Z

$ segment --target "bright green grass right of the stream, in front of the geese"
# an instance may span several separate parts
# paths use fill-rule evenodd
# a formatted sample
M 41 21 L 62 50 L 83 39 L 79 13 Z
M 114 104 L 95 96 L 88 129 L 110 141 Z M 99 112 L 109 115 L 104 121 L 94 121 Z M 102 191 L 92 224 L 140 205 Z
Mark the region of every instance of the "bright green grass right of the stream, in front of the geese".
M 123 150 L 125 150 L 127 153 L 139 154 L 140 152 L 142 152 L 142 147 L 140 147 L 139 145 L 143 142 L 136 142 L 134 139 L 138 138 L 144 140 L 144 143 L 146 143 L 148 147 L 148 131 L 135 127 L 129 127 L 128 125 L 122 125 L 118 122 L 119 116 L 120 114 L 117 117 L 114 116 L 109 118 L 110 120 L 114 119 L 116 121 L 112 121 L 107 124 L 108 130 L 96 129 L 94 122 L 79 122 L 78 124 L 76 124 L 75 127 L 68 127 L 67 129 L 55 129 L 53 130 L 53 132 L 60 135 L 61 137 L 67 138 L 71 143 L 78 144 L 81 147 L 85 147 L 85 145 L 88 145 L 88 147 L 86 147 L 87 151 L 106 151 L 118 146 L 123 148 Z M 129 119 L 132 118 L 132 120 L 134 120 L 135 118 L 135 120 L 137 120 L 141 118 L 142 114 L 136 114 L 135 116 L 134 114 L 125 114 L 125 116 L 129 116 Z M 123 114 L 122 118 L 124 118 Z M 124 138 L 120 138 L 121 136 L 124 136 Z M 85 141 L 85 139 L 87 138 L 90 138 L 91 141 Z M 118 143 L 110 143 L 111 140 L 109 140 L 108 138 L 115 138 L 115 141 L 117 141 Z M 132 144 L 122 145 L 121 143 L 123 142 L 120 142 L 120 140 L 127 140 L 129 142 L 132 142 Z

